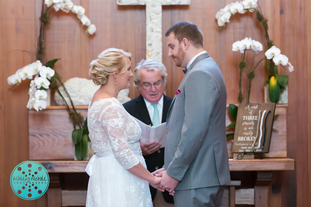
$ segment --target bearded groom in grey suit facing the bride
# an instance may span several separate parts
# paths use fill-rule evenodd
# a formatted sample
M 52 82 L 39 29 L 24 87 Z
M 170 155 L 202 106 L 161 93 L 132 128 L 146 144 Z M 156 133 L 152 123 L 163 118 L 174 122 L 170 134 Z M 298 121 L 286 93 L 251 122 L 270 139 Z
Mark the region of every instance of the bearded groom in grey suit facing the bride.
M 220 206 L 230 183 L 224 77 L 197 25 L 179 22 L 165 36 L 168 56 L 185 76 L 166 119 L 164 168 L 153 174 L 162 177 L 160 188 L 175 191 L 176 207 Z

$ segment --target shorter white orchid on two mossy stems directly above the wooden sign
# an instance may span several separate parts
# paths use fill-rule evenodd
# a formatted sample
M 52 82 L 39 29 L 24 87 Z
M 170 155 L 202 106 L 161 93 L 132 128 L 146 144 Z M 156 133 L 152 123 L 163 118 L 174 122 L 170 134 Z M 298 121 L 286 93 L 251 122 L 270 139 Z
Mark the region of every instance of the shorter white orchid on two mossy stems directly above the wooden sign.
M 239 78 L 239 94 L 238 94 L 238 101 L 239 103 L 242 103 L 244 96 L 243 93 L 241 91 L 241 79 L 242 79 L 242 72 L 243 69 L 247 67 L 246 62 L 244 61 L 245 58 L 245 53 L 247 50 L 250 51 L 254 51 L 256 53 L 258 53 L 258 51 L 262 51 L 262 44 L 256 40 L 252 40 L 251 38 L 244 38 L 241 41 L 236 41 L 232 44 L 232 51 L 240 51 L 243 54 L 243 58 L 242 60 L 240 60 L 239 62 L 239 69 L 240 69 L 240 78 Z M 248 95 L 246 97 L 247 99 L 247 103 L 249 103 L 249 94 L 250 94 L 250 90 L 251 90 L 251 83 L 252 83 L 252 79 L 255 77 L 254 71 L 257 68 L 257 66 L 259 65 L 259 63 L 264 60 L 265 58 L 261 59 L 258 64 L 252 68 L 252 65 L 250 66 L 249 70 L 248 70 L 248 74 L 247 74 L 247 78 L 248 78 Z

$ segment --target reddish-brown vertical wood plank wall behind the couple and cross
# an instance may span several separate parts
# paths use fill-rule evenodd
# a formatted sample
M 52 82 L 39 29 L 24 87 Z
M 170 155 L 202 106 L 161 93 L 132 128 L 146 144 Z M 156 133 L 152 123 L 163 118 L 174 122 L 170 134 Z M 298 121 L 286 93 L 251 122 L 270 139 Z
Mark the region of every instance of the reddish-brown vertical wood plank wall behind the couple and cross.
M 117 6 L 113 0 L 74 0 L 86 8 L 97 32 L 89 36 L 72 14 L 54 12 L 46 30 L 46 60 L 61 58 L 55 69 L 64 81 L 72 77 L 88 78 L 89 62 L 108 47 L 131 52 L 132 66 L 145 58 L 145 7 Z M 167 57 L 165 31 L 173 24 L 188 20 L 204 34 L 204 48 L 218 63 L 227 86 L 227 103 L 237 103 L 240 53 L 231 45 L 244 37 L 265 45 L 261 25 L 252 13 L 236 15 L 220 32 L 215 14 L 230 0 L 192 0 L 189 6 L 163 6 L 163 63 L 168 70 L 167 95 L 173 97 L 183 73 Z M 296 161 L 296 170 L 275 172 L 271 206 L 310 206 L 311 196 L 311 3 L 308 0 L 258 0 L 268 18 L 270 38 L 281 53 L 289 57 L 295 72 L 289 80 L 287 109 L 287 155 Z M 0 206 L 35 206 L 36 201 L 18 198 L 10 187 L 10 174 L 28 160 L 29 80 L 7 91 L 7 77 L 33 61 L 38 37 L 41 0 L 0 0 Z M 309 33 L 308 33 L 309 31 Z M 28 52 L 23 52 L 28 51 Z M 248 51 L 249 52 L 249 51 Z M 260 60 L 259 52 L 255 60 Z M 250 61 L 250 58 L 247 58 Z M 308 64 L 309 63 L 309 64 Z M 134 68 L 134 67 L 133 67 Z M 263 102 L 263 82 L 267 79 L 264 64 L 255 71 L 251 102 Z M 243 74 L 243 93 L 247 79 Z M 131 86 L 130 97 L 139 95 Z M 244 101 L 246 99 L 244 98 Z M 308 116 L 309 113 L 309 116 Z M 274 190 L 273 190 L 274 189 Z M 279 191 L 278 189 L 281 189 Z

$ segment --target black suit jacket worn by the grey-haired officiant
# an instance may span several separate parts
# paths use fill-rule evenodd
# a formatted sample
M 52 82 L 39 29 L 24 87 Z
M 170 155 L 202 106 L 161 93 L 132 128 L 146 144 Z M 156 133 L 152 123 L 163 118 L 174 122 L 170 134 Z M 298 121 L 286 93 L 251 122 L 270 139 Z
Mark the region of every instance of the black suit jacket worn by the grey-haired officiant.
M 169 111 L 169 107 L 172 103 L 172 98 L 163 95 L 163 110 L 162 110 L 162 122 L 166 122 L 166 116 L 167 112 Z M 135 117 L 136 119 L 139 119 L 143 123 L 152 126 L 152 122 L 149 116 L 149 112 L 146 106 L 146 103 L 144 101 L 144 98 L 142 95 L 139 95 L 137 98 L 134 98 L 131 101 L 128 101 L 123 104 L 123 107 L 125 110 Z M 162 168 L 164 165 L 164 147 L 160 148 L 160 150 L 144 156 L 146 160 L 147 169 L 149 172 L 154 172 L 156 169 Z M 154 200 L 156 196 L 156 189 L 153 187 L 150 187 L 151 197 L 152 200 Z M 167 203 L 174 203 L 173 196 L 170 196 L 167 191 L 163 192 L 164 200 Z

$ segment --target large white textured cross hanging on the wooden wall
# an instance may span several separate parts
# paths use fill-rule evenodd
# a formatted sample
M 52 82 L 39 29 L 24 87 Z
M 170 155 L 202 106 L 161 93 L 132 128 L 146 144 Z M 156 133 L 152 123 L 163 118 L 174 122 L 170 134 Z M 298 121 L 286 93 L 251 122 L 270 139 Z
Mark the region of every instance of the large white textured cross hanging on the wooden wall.
M 146 5 L 146 59 L 162 62 L 162 5 L 189 5 L 191 0 L 117 0 L 118 5 Z

